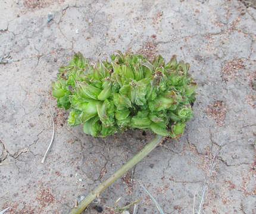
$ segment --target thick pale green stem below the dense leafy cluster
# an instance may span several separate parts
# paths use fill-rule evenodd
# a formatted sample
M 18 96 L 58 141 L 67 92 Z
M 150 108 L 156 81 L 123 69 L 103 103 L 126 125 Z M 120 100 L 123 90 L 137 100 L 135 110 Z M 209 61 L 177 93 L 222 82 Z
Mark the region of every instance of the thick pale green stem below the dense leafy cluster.
M 148 153 L 150 153 L 157 145 L 161 142 L 163 136 L 155 136 L 155 138 L 148 143 L 141 151 L 139 151 L 132 159 L 127 161 L 121 168 L 119 168 L 111 177 L 102 182 L 102 184 L 98 185 L 94 190 L 92 190 L 82 202 L 79 203 L 77 207 L 71 210 L 70 214 L 80 214 L 85 210 L 85 208 L 96 199 L 102 191 L 105 190 L 108 186 L 110 186 L 117 178 L 121 177 L 125 172 L 127 172 L 130 168 L 135 166 L 138 162 L 140 162 Z

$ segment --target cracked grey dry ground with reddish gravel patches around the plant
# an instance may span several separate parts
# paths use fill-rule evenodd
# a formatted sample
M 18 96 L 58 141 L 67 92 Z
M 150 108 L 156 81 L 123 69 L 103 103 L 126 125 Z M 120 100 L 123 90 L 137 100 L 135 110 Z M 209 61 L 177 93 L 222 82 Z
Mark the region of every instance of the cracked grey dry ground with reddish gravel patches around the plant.
M 201 213 L 256 213 L 254 7 L 236 0 L 42 2 L 0 1 L 0 210 L 68 213 L 152 139 L 142 131 L 86 136 L 55 108 L 50 87 L 60 65 L 77 51 L 94 61 L 118 49 L 176 54 L 191 64 L 198 96 L 185 134 L 105 190 L 100 205 L 141 198 L 139 214 L 157 213 L 141 181 L 167 214 L 193 213 L 202 196 Z M 42 164 L 52 134 L 46 106 L 56 129 Z M 93 206 L 85 213 L 95 213 Z

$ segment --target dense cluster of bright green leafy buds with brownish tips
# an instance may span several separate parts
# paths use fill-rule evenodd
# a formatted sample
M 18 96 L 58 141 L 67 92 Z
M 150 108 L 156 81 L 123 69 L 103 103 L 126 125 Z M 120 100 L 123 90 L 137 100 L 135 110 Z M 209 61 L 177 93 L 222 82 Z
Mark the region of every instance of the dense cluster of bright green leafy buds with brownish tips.
M 111 55 L 111 62 L 92 64 L 82 54 L 60 67 L 52 95 L 70 109 L 68 124 L 83 125 L 92 136 L 105 137 L 127 128 L 151 130 L 177 138 L 192 117 L 196 83 L 189 64 L 174 55 L 148 61 L 142 55 Z

